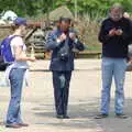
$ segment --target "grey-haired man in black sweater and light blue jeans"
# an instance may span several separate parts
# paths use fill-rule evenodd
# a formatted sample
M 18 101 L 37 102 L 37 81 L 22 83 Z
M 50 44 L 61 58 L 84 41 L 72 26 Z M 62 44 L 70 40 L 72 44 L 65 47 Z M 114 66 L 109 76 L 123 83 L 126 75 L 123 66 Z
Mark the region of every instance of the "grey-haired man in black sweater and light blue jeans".
M 125 119 L 123 113 L 124 78 L 128 57 L 128 45 L 132 40 L 132 22 L 123 18 L 123 8 L 116 3 L 110 9 L 110 16 L 101 25 L 99 41 L 102 43 L 102 92 L 101 114 L 96 119 L 107 118 L 110 107 L 110 89 L 112 77 L 116 82 L 114 113 Z

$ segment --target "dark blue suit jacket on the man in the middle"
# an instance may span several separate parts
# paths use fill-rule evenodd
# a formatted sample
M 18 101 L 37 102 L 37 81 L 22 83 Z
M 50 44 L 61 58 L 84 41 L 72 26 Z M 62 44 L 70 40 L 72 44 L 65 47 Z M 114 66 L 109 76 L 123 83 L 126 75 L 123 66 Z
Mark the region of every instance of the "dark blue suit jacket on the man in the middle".
M 69 32 L 74 32 L 74 31 L 69 31 Z M 68 32 L 68 33 L 69 33 Z M 58 57 L 58 54 L 65 43 L 58 43 L 56 41 L 56 38 L 62 34 L 61 30 L 54 30 L 53 32 L 51 32 L 46 38 L 46 50 L 52 51 L 52 61 L 51 61 L 51 66 L 50 69 L 51 70 L 56 70 L 56 72 L 69 72 L 69 70 L 74 70 L 74 57 L 75 57 L 75 53 L 73 52 L 73 48 L 77 48 L 79 51 L 84 51 L 84 44 L 81 44 L 79 41 L 74 42 L 72 38 L 68 38 L 68 58 L 67 61 L 62 61 Z

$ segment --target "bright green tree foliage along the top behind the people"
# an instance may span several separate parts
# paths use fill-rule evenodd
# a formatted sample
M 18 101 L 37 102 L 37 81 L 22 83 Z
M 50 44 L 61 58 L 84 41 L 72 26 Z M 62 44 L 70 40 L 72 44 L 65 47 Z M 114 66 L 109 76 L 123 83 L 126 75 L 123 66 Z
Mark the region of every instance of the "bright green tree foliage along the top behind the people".
M 78 14 L 95 13 L 107 14 L 108 9 L 114 2 L 121 2 L 124 9 L 132 12 L 132 0 L 76 0 Z M 47 13 L 55 8 L 66 4 L 75 12 L 75 0 L 0 0 L 0 12 L 13 10 L 19 15 L 36 16 Z

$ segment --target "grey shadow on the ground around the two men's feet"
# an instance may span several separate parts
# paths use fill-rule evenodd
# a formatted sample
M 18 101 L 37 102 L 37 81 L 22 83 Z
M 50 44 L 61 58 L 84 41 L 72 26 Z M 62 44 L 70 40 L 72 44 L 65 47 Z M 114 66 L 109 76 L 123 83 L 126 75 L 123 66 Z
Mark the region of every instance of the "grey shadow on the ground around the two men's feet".
M 99 99 L 81 100 L 69 105 L 69 120 L 55 119 L 53 105 L 40 103 L 33 108 L 36 118 L 41 122 L 35 124 L 46 124 L 50 127 L 65 129 L 96 129 L 102 132 L 130 132 L 132 129 L 132 99 L 125 100 L 124 111 L 129 116 L 128 119 L 117 119 L 114 117 L 113 99 L 111 101 L 111 110 L 109 118 L 95 119 L 99 110 Z M 128 131 L 127 131 L 128 130 Z

